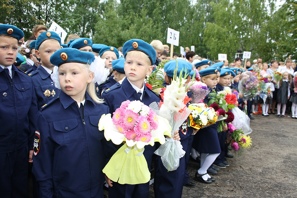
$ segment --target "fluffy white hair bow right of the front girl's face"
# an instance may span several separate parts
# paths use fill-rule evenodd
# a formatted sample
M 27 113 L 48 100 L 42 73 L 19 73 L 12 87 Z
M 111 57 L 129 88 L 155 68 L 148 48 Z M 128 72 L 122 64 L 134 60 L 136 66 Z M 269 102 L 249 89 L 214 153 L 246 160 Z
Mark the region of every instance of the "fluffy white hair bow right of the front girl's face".
M 97 83 L 98 85 L 105 83 L 107 77 L 109 75 L 108 68 L 105 68 L 106 59 L 100 58 L 100 56 L 95 56 L 94 62 L 91 63 L 89 69 L 94 73 L 94 78 L 92 80 L 93 83 Z

